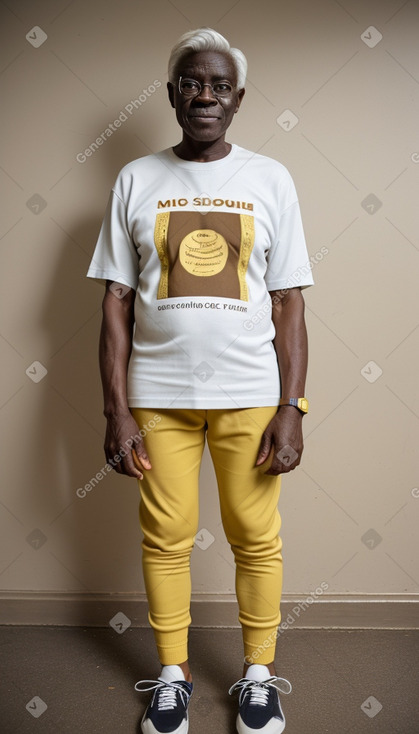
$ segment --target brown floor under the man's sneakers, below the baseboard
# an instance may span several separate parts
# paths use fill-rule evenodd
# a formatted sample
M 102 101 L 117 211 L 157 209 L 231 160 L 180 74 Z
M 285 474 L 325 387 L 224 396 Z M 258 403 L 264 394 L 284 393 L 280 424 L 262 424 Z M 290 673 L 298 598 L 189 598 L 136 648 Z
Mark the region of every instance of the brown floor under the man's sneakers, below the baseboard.
M 416 631 L 284 632 L 286 733 L 418 734 L 418 652 Z M 191 630 L 190 660 L 190 734 L 234 734 L 240 630 Z M 149 694 L 134 683 L 159 672 L 151 631 L 138 628 L 0 627 L 0 666 L 1 734 L 138 734 Z

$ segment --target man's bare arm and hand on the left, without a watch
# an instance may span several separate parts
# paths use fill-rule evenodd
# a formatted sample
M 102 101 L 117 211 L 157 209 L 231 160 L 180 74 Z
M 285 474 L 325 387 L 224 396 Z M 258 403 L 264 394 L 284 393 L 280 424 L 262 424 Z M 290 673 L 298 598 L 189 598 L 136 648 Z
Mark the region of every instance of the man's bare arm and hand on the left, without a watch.
M 127 372 L 132 349 L 135 291 L 131 288 L 123 298 L 118 298 L 110 289 L 111 285 L 112 281 L 106 282 L 99 344 L 103 412 L 107 420 L 104 449 L 106 460 L 119 474 L 142 479 L 143 469 L 151 469 L 151 463 L 127 401 Z M 134 436 L 135 442 L 132 441 Z M 131 446 L 138 458 L 137 466 L 134 464 Z M 121 455 L 121 449 L 124 449 L 122 453 L 126 452 L 126 456 Z

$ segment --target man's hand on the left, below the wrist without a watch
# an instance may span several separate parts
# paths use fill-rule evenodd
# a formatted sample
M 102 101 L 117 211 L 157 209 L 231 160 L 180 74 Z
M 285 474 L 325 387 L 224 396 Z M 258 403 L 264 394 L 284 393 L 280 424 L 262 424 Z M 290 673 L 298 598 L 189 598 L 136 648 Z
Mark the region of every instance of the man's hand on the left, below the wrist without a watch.
M 142 479 L 143 470 L 151 469 L 144 441 L 131 413 L 108 418 L 104 449 L 106 460 L 118 474 Z

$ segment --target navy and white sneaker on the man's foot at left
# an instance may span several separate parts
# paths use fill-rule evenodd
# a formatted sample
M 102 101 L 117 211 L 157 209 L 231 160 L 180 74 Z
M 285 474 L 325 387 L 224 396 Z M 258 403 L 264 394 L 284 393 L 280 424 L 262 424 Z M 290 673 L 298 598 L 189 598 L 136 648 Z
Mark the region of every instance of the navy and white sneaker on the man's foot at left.
M 188 704 L 193 684 L 186 680 L 167 682 L 140 680 L 135 690 L 154 690 L 153 698 L 141 720 L 143 734 L 187 734 L 189 730 Z

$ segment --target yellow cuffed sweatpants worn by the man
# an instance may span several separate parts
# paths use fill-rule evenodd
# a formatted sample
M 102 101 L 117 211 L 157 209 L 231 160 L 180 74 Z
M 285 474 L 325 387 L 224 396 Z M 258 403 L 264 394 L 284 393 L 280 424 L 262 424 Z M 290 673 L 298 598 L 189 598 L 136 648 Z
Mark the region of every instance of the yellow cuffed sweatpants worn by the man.
M 217 477 L 224 531 L 236 563 L 236 594 L 249 662 L 268 664 L 280 623 L 281 478 L 254 464 L 277 407 L 238 410 L 131 408 L 152 469 L 139 481 L 143 573 L 162 665 L 188 658 L 190 554 L 198 532 L 198 478 L 205 435 Z M 156 423 L 156 414 L 161 420 Z M 153 420 L 154 419 L 154 420 Z M 150 422 L 150 423 L 149 423 Z M 205 526 L 205 521 L 202 523 Z

